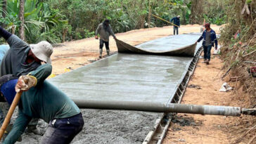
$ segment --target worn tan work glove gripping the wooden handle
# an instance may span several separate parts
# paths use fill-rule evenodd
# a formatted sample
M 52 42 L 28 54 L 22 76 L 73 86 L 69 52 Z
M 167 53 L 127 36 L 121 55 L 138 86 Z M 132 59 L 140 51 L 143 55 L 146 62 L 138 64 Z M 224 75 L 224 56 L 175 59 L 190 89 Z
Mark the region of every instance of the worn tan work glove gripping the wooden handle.
M 28 91 L 32 86 L 37 85 L 37 78 L 31 75 L 20 76 L 18 82 L 15 86 L 15 91 L 18 93 L 20 91 Z

